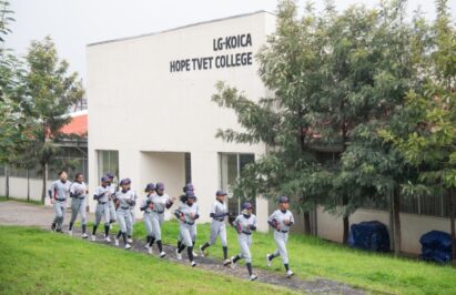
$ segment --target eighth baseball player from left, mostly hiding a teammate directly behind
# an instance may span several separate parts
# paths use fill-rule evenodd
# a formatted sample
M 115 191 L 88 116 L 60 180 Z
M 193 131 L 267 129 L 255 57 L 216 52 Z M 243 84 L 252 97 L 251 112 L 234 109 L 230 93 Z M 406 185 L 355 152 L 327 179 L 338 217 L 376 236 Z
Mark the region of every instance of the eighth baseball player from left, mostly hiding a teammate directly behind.
M 182 236 L 182 244 L 175 250 L 178 260 L 182 260 L 182 251 L 186 247 L 189 261 L 192 267 L 196 266 L 193 261 L 193 241 L 196 238 L 195 223 L 200 217 L 200 208 L 195 203 L 195 195 L 192 191 L 186 192 L 186 202 L 174 213 L 180 220 L 180 230 Z

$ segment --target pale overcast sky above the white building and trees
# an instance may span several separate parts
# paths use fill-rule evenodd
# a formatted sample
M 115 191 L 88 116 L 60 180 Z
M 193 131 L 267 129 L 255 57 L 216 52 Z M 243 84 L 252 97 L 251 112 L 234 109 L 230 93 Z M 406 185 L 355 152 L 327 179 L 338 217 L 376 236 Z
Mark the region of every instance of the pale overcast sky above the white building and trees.
M 32 40 L 51 35 L 59 55 L 85 78 L 85 45 L 172 29 L 194 22 L 266 10 L 274 12 L 276 0 L 10 0 L 16 22 L 7 47 L 24 54 Z M 322 8 L 322 0 L 315 0 Z M 375 6 L 376 0 L 335 0 L 338 10 L 354 3 Z M 303 7 L 305 1 L 298 1 Z M 433 0 L 409 0 L 412 13 L 418 4 L 429 19 Z M 449 0 L 456 16 L 456 0 Z

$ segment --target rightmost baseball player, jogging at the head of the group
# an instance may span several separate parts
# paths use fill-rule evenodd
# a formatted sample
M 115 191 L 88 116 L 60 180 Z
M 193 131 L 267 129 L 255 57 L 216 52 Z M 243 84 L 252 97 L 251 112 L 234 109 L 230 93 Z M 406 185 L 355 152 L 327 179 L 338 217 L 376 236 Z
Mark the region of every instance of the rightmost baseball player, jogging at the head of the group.
M 275 230 L 274 241 L 277 248 L 272 254 L 266 254 L 266 264 L 271 266 L 271 261 L 277 256 L 282 256 L 283 265 L 285 266 L 286 277 L 293 275 L 288 266 L 288 253 L 286 251 L 286 242 L 288 241 L 290 226 L 293 225 L 294 218 L 292 212 L 288 210 L 288 197 L 282 195 L 278 197 L 278 210 L 267 218 L 267 223 Z

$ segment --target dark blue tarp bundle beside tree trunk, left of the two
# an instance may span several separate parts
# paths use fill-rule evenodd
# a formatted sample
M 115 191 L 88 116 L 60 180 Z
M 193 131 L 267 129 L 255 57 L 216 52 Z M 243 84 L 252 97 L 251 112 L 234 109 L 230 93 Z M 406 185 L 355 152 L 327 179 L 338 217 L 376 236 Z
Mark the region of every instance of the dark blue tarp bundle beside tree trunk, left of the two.
M 378 221 L 352 224 L 348 245 L 375 252 L 389 252 L 388 231 L 385 224 Z

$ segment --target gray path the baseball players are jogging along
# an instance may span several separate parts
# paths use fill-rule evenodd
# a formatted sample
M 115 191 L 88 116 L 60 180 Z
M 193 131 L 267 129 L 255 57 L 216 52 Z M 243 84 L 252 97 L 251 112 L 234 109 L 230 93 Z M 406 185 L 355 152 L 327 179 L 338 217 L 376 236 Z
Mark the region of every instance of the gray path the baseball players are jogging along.
M 52 221 L 52 218 L 53 211 L 51 207 L 31 205 L 20 202 L 0 202 L 0 225 L 39 226 L 44 230 L 50 230 L 50 222 Z M 70 214 L 67 214 L 64 224 L 68 224 L 69 218 Z M 89 214 L 88 220 L 93 220 L 93 214 Z M 79 237 L 79 235 L 74 236 Z M 102 234 L 98 235 L 97 237 L 98 242 L 95 243 L 114 246 L 113 242 L 111 244 L 103 242 Z M 132 251 L 146 254 L 146 250 L 144 248 L 144 241 L 134 241 Z M 164 245 L 164 251 L 166 252 L 165 260 L 189 265 L 185 251 L 183 252 L 182 261 L 175 258 L 174 246 Z M 158 250 L 155 246 L 153 255 L 158 255 Z M 231 267 L 223 266 L 221 261 L 212 257 L 196 257 L 195 262 L 197 263 L 196 267 L 199 268 L 223 273 L 225 275 L 235 276 L 242 279 L 246 279 L 247 277 L 247 271 L 245 266 L 237 266 L 232 269 Z M 298 276 L 286 278 L 283 273 L 267 272 L 260 268 L 254 268 L 254 273 L 259 276 L 260 282 L 285 286 L 310 294 L 365 294 L 363 289 L 353 288 L 348 285 L 324 278 L 318 278 L 315 281 L 303 281 Z

